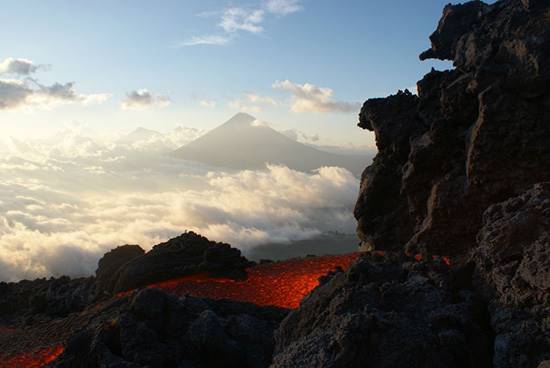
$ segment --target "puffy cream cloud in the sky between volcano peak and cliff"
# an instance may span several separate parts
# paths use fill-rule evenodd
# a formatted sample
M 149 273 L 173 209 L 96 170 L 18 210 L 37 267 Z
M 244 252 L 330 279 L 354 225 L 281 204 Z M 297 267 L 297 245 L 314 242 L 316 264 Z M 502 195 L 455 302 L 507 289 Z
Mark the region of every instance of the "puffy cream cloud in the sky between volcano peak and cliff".
M 310 83 L 297 84 L 289 80 L 276 81 L 273 88 L 291 93 L 291 110 L 293 112 L 357 112 L 361 106 L 358 102 L 335 101 L 333 91 L 328 87 L 317 87 Z

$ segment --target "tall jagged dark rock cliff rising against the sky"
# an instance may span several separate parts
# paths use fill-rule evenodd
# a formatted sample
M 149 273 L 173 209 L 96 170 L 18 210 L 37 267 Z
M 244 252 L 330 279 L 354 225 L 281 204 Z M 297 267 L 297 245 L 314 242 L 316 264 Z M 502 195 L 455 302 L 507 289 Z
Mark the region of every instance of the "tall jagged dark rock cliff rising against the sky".
M 452 60 L 365 102 L 379 154 L 355 208 L 365 248 L 465 255 L 483 211 L 550 180 L 550 2 L 448 5 L 421 58 Z

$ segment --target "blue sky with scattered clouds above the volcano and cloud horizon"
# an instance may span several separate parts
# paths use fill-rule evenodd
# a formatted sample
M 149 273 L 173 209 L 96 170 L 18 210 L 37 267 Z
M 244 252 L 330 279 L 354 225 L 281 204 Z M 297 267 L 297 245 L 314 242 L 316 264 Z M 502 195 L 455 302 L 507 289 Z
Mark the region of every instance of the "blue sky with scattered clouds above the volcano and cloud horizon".
M 413 88 L 448 0 L 5 0 L 3 136 L 212 129 L 245 111 L 372 146 L 362 102 Z

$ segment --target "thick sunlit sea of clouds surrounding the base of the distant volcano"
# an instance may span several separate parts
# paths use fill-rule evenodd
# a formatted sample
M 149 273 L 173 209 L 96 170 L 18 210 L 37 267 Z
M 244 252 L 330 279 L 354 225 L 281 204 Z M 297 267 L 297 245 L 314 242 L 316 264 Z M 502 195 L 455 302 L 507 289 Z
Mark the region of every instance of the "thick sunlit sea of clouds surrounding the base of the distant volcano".
M 170 152 L 202 132 L 138 131 L 98 143 L 67 129 L 0 142 L 0 280 L 90 275 L 122 244 L 186 230 L 248 249 L 352 233 L 358 179 L 342 168 L 229 171 Z

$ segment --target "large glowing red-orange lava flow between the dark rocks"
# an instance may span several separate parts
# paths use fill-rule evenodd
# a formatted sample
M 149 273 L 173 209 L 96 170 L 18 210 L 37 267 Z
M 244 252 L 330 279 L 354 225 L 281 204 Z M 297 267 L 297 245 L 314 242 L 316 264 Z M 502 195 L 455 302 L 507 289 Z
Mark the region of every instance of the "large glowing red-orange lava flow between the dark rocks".
M 212 299 L 232 299 L 262 306 L 298 308 L 300 301 L 319 285 L 319 277 L 337 267 L 347 269 L 359 253 L 323 256 L 268 263 L 247 269 L 245 280 L 185 276 L 148 287 L 164 289 L 178 296 L 194 295 Z M 124 294 L 124 293 L 123 293 Z

